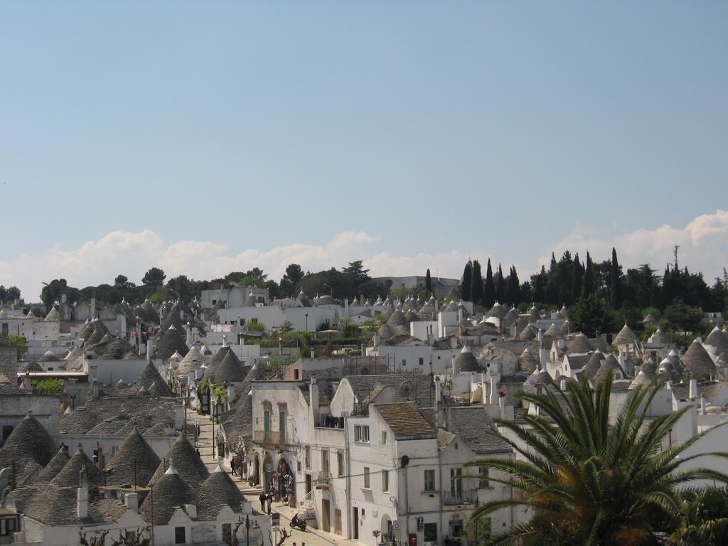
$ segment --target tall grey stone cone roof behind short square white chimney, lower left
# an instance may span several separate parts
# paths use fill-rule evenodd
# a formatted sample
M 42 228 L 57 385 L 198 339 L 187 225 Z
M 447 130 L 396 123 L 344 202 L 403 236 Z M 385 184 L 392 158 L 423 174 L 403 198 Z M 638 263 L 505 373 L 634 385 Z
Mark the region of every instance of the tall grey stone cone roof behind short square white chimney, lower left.
M 161 462 L 134 428 L 106 465 L 106 483 L 110 486 L 146 486 Z

